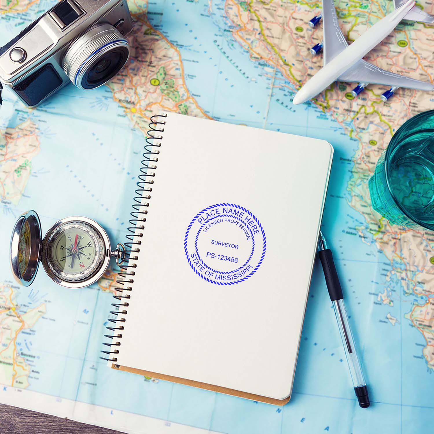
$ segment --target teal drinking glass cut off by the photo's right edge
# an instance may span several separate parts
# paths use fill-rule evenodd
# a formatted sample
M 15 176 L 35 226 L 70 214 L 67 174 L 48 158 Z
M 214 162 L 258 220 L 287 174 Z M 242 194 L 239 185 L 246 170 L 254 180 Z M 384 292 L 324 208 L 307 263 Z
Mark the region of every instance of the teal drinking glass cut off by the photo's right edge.
M 372 207 L 392 224 L 434 230 L 434 110 L 401 125 L 368 185 Z

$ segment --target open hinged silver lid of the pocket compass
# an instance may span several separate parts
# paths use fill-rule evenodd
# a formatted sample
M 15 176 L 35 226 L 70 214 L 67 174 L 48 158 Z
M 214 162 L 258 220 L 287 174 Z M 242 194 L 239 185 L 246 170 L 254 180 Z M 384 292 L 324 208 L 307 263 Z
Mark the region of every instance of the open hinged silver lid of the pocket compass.
M 10 265 L 18 283 L 29 286 L 35 279 L 41 247 L 41 222 L 31 210 L 18 217 L 10 239 Z

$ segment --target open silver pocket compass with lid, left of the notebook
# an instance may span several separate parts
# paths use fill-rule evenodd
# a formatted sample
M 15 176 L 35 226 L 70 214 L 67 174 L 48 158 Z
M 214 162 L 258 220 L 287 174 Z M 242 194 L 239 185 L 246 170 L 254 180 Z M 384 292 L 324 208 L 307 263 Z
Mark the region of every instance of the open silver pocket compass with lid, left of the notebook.
M 56 283 L 66 288 L 92 285 L 109 266 L 110 257 L 121 265 L 125 247 L 110 249 L 107 233 L 87 217 L 67 217 L 41 236 L 41 223 L 35 211 L 21 215 L 10 240 L 10 263 L 18 283 L 29 286 L 35 279 L 39 262 Z

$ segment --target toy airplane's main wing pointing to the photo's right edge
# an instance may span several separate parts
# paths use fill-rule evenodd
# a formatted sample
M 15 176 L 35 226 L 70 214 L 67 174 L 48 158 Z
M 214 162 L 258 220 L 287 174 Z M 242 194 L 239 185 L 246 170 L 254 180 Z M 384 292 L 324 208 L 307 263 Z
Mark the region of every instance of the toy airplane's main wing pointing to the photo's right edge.
M 393 72 L 378 68 L 365 60 L 359 60 L 354 66 L 345 71 L 337 81 L 342 82 L 365 82 L 371 84 L 384 84 L 387 86 L 406 87 L 408 89 L 434 90 L 431 83 L 411 79 Z

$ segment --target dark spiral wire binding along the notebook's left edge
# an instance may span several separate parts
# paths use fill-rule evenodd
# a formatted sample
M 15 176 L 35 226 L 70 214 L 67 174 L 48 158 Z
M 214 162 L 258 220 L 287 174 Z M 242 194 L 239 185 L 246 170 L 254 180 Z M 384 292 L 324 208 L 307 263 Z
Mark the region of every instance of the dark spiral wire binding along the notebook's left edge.
M 127 300 L 131 297 L 129 292 L 132 291 L 131 284 L 134 283 L 135 276 L 135 271 L 130 269 L 137 267 L 137 263 L 133 261 L 138 260 L 137 253 L 140 253 L 140 238 L 143 237 L 143 233 L 137 233 L 137 230 L 145 229 L 144 223 L 146 221 L 146 214 L 148 214 L 146 208 L 149 206 L 148 200 L 151 199 L 150 193 L 152 191 L 152 184 L 154 184 L 153 178 L 155 177 L 155 172 L 150 172 L 149 170 L 155 170 L 157 168 L 155 163 L 158 161 L 160 151 L 155 148 L 161 147 L 162 133 L 164 132 L 164 126 L 162 125 L 166 124 L 165 118 L 167 118 L 166 114 L 153 115 L 149 123 L 146 145 L 144 147 L 145 152 L 143 153 L 143 160 L 141 161 L 141 173 L 138 176 L 139 181 L 137 182 L 137 188 L 135 190 L 136 195 L 133 199 L 135 203 L 132 205 L 133 211 L 130 213 L 132 218 L 128 220 L 131 226 L 127 228 L 129 233 L 126 236 L 128 241 L 125 243 L 125 265 L 119 265 L 120 271 L 116 278 L 118 286 L 115 287 L 116 295 L 113 297 L 118 300 L 118 302 L 112 303 L 112 306 L 115 307 L 116 310 L 110 312 L 112 315 L 115 315 L 116 318 L 108 319 L 113 326 L 106 327 L 106 329 L 112 332 L 112 334 L 104 335 L 106 338 L 112 339 L 112 342 L 103 343 L 103 345 L 109 347 L 109 351 L 102 351 L 105 357 L 100 357 L 108 362 L 118 361 L 116 355 L 119 353 L 119 349 L 117 347 L 121 345 L 120 339 L 122 338 L 122 330 L 124 329 L 122 323 L 125 322 L 125 317 L 118 318 L 118 315 L 121 314 L 125 316 L 128 313 L 125 308 L 128 307 Z M 154 143 L 154 141 L 158 141 L 158 143 Z M 144 201 L 144 199 L 146 201 Z M 115 365 L 115 368 L 119 368 L 119 365 Z

